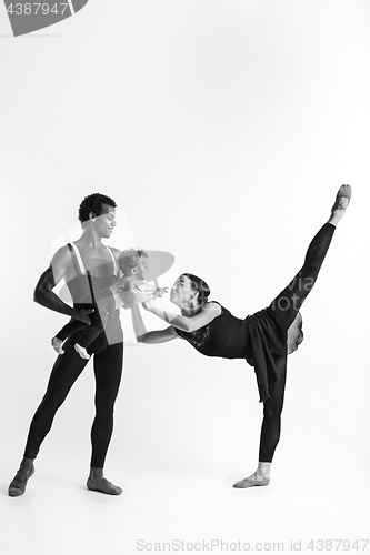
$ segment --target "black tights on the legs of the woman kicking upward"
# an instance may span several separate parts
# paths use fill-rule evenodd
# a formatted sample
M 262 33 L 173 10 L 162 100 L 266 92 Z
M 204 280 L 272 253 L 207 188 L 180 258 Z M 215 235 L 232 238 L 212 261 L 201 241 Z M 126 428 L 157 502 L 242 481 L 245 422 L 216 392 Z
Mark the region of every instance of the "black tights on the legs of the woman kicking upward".
M 294 321 L 304 299 L 318 278 L 321 264 L 328 252 L 336 226 L 326 223 L 314 235 L 307 251 L 304 264 L 289 285 L 272 301 L 279 325 L 287 331 Z M 287 355 L 274 355 L 280 377 L 270 389 L 270 397 L 263 403 L 263 422 L 260 440 L 260 462 L 271 462 L 280 438 L 281 411 L 283 406 Z

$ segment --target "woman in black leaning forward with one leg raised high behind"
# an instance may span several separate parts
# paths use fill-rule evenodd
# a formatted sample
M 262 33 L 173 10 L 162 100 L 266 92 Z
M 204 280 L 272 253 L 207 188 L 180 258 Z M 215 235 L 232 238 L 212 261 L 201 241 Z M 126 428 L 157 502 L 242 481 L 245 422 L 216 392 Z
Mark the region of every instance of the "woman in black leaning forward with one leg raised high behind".
M 270 306 L 246 320 L 234 317 L 214 301 L 208 302 L 210 290 L 207 283 L 192 274 L 180 275 L 171 290 L 171 302 L 181 310 L 181 315 L 143 303 L 146 310 L 170 323 L 169 327 L 147 332 L 138 306 L 132 307 L 138 342 L 163 343 L 181 337 L 207 356 L 246 359 L 254 366 L 260 401 L 263 402 L 259 463 L 257 471 L 237 482 L 234 487 L 266 486 L 270 482 L 271 461 L 280 437 L 288 330 L 291 326 L 291 336 L 298 332 L 293 341 L 299 344 L 302 341 L 299 309 L 317 280 L 336 226 L 351 195 L 350 185 L 339 189 L 331 216 L 311 241 L 303 266 Z M 296 332 L 292 332 L 293 329 Z

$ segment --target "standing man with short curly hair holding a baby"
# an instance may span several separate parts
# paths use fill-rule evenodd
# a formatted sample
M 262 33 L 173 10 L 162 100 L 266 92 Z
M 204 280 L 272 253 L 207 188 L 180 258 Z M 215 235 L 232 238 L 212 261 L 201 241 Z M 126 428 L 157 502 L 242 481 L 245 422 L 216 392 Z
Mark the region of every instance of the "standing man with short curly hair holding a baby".
M 79 220 L 82 235 L 74 243 L 62 246 L 41 275 L 34 291 L 34 301 L 47 309 L 90 323 L 91 305 L 79 304 L 80 299 L 92 291 L 109 287 L 118 279 L 118 249 L 102 243 L 116 226 L 116 202 L 100 193 L 90 194 L 81 202 Z M 90 275 L 87 275 L 87 271 Z M 64 279 L 73 299 L 73 307 L 63 303 L 52 290 Z M 90 283 L 89 283 L 90 282 Z M 90 285 L 91 284 L 91 285 Z M 93 296 L 93 293 L 92 293 Z M 93 302 L 93 299 L 92 299 Z M 80 332 L 77 332 L 78 334 Z M 76 334 L 63 345 L 53 365 L 47 392 L 31 422 L 23 460 L 9 485 L 9 495 L 18 497 L 26 491 L 27 482 L 34 473 L 33 460 L 49 433 L 56 412 L 66 400 L 71 386 L 88 363 L 74 350 Z M 113 430 L 113 406 L 118 394 L 123 362 L 123 334 L 119 311 L 108 316 L 104 331 L 88 349 L 93 354 L 96 376 L 96 417 L 91 428 L 92 455 L 89 490 L 119 495 L 122 490 L 103 477 L 103 466 Z

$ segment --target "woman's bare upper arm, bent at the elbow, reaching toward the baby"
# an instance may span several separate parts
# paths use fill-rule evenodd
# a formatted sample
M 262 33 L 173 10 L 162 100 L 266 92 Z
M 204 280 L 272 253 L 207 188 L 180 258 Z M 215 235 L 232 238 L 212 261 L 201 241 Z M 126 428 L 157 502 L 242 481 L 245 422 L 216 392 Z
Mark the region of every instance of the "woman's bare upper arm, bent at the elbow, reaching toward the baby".
M 191 317 L 162 311 L 151 303 L 143 303 L 142 305 L 147 311 L 183 332 L 194 332 L 221 314 L 221 306 L 218 303 L 207 303 L 198 314 Z

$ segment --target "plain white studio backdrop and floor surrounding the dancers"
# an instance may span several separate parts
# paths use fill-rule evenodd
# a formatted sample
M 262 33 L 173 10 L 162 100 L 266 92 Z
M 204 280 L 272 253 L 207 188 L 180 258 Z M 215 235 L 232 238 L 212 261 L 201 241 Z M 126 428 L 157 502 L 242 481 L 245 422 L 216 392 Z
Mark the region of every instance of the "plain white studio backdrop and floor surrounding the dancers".
M 367 537 L 369 31 L 360 0 L 90 0 L 18 39 L 0 9 L 2 553 Z M 268 488 L 231 487 L 257 463 L 253 369 L 177 341 L 127 345 L 107 460 L 123 495 L 83 490 L 89 364 L 27 495 L 7 497 L 66 322 L 33 289 L 83 196 L 118 203 L 110 244 L 176 255 L 161 285 L 190 271 L 244 317 L 298 271 L 342 183 L 353 200 L 302 310 Z

